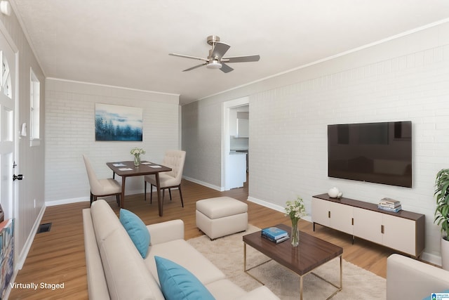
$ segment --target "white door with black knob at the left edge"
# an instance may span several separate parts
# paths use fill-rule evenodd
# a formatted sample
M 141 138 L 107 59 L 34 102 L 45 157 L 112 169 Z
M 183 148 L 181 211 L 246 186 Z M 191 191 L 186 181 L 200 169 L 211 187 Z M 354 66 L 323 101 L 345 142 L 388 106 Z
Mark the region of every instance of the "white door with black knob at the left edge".
M 13 218 L 15 165 L 15 55 L 0 32 L 0 204 Z

